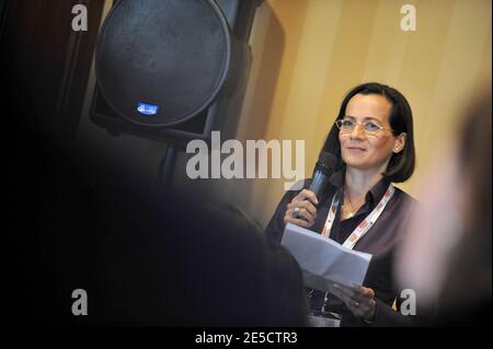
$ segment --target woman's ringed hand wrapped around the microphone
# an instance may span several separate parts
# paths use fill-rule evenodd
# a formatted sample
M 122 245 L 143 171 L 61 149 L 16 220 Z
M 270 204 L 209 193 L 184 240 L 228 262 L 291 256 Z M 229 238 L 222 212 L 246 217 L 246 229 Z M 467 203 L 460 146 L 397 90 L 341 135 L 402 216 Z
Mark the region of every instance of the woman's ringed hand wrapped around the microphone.
M 293 200 L 287 205 L 287 210 L 284 216 L 284 223 L 293 223 L 303 228 L 310 228 L 314 224 L 317 219 L 316 205 L 319 203 L 313 191 L 302 189 Z

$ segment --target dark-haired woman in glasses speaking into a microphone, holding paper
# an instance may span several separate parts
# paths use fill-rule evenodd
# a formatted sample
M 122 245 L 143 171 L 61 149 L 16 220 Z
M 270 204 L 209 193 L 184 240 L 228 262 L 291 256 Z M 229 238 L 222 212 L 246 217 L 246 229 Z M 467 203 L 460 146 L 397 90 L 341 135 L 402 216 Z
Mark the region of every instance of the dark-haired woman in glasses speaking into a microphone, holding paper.
M 342 326 L 390 325 L 402 317 L 391 309 L 394 300 L 400 305 L 392 265 L 414 201 L 391 185 L 414 171 L 408 101 L 379 83 L 356 86 L 345 96 L 322 151 L 339 159 L 324 191 L 320 197 L 308 189 L 286 193 L 266 234 L 280 242 L 285 225 L 294 223 L 371 254 L 363 287 L 334 286 L 334 294 L 309 290 L 310 307 L 341 314 Z

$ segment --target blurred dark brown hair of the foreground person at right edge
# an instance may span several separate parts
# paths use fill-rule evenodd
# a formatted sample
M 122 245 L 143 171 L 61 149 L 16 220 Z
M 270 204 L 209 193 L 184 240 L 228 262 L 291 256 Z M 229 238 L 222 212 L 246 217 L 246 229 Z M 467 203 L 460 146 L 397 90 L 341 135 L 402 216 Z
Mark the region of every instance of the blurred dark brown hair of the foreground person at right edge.
M 465 112 L 460 128 L 461 185 L 467 187 L 463 235 L 452 252 L 438 323 L 491 324 L 492 187 L 491 86 Z

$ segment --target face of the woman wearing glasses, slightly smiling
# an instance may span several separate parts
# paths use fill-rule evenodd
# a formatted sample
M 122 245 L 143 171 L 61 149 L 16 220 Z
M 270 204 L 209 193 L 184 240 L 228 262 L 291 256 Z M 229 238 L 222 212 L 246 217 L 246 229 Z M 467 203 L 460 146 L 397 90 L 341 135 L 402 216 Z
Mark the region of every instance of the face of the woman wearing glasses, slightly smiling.
M 342 159 L 348 167 L 385 172 L 392 153 L 402 151 L 405 133 L 393 136 L 389 124 L 392 104 L 378 94 L 356 94 L 346 106 L 345 118 L 357 123 L 351 130 L 340 130 Z M 372 121 L 383 129 L 367 132 L 362 125 Z

